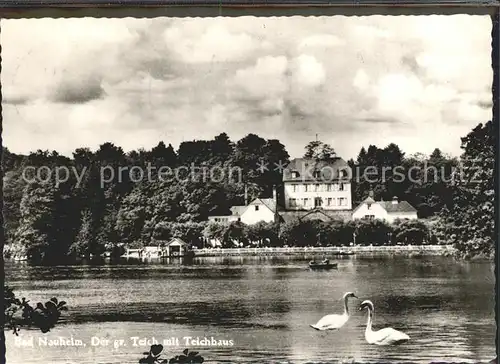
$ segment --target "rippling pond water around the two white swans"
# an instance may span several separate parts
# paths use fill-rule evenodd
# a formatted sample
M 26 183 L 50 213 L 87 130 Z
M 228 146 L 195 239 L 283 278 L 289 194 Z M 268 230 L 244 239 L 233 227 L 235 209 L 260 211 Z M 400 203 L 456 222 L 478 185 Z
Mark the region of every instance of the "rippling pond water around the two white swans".
M 492 263 L 354 256 L 339 259 L 337 270 L 311 271 L 307 261 L 212 257 L 196 258 L 191 265 L 7 263 L 6 280 L 18 296 L 31 302 L 56 296 L 69 306 L 50 333 L 21 331 L 24 340 L 32 338 L 33 347 L 20 347 L 6 332 L 7 363 L 138 363 L 149 346 L 134 346 L 131 337 L 170 339 L 167 357 L 189 348 L 213 363 L 479 362 L 495 357 Z M 346 291 L 360 298 L 350 301 L 346 326 L 337 332 L 311 329 L 322 316 L 342 312 Z M 375 305 L 374 329 L 390 326 L 411 340 L 393 347 L 369 345 L 366 312 L 358 311 L 364 299 Z M 86 346 L 38 342 L 59 337 Z M 92 346 L 92 337 L 108 339 L 109 345 Z M 185 337 L 213 337 L 221 346 L 186 345 Z M 126 346 L 115 348 L 114 340 Z

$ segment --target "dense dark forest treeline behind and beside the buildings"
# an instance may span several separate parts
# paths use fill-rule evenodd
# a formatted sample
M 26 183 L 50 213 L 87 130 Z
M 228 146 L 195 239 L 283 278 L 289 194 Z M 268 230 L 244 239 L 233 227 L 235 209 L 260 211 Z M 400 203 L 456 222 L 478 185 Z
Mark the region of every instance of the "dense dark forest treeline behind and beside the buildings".
M 348 161 L 353 168 L 354 206 L 370 190 L 376 199 L 398 196 L 428 220 L 426 229 L 414 227 L 427 231 L 419 233 L 425 241 L 433 236 L 455 243 L 466 254 L 491 252 L 496 145 L 492 129 L 491 122 L 480 124 L 464 137 L 460 159 L 439 149 L 428 157 L 406 156 L 395 144 L 362 148 L 356 160 Z M 335 152 L 312 142 L 306 155 L 331 158 Z M 76 149 L 71 158 L 41 150 L 17 155 L 3 148 L 5 253 L 35 260 L 120 254 L 123 245 L 140 247 L 171 237 L 197 246 L 214 237 L 225 242 L 329 245 L 352 240 L 353 232 L 356 243 L 378 243 L 363 228 L 341 222 L 291 222 L 272 228 L 206 223 L 211 214 L 229 214 L 231 206 L 243 205 L 245 186 L 249 201 L 270 197 L 273 186 L 280 191 L 281 174 L 273 166 L 289 158 L 278 140 L 255 134 L 233 142 L 223 133 L 212 140 L 183 142 L 177 151 L 160 142 L 151 150 L 126 153 L 105 143 L 95 151 Z M 257 168 L 261 161 L 269 168 Z M 57 181 L 54 171 L 61 166 L 69 173 Z M 479 182 L 471 178 L 477 166 Z M 38 180 L 28 181 L 35 171 Z M 378 224 L 391 243 L 399 239 L 397 227 L 369 224 Z M 414 238 L 403 241 L 408 239 Z

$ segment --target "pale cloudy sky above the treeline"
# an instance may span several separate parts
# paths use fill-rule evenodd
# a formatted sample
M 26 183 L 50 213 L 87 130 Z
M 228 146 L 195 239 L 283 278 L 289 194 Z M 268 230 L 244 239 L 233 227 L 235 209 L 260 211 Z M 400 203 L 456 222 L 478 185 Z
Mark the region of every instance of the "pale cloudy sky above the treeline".
M 346 159 L 439 147 L 491 118 L 487 16 L 2 20 L 4 144 L 126 151 L 315 134 Z

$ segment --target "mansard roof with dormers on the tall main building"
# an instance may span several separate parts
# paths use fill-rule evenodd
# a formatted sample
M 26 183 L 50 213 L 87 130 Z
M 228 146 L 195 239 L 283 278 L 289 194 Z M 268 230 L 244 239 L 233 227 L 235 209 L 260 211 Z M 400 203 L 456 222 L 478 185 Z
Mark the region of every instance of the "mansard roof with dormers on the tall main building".
M 317 172 L 316 175 L 314 172 Z M 296 172 L 297 175 L 293 175 Z M 284 182 L 306 181 L 334 181 L 339 179 L 350 180 L 351 168 L 342 158 L 332 160 L 316 160 L 308 158 L 295 158 L 283 170 Z

